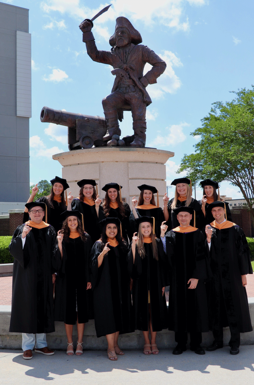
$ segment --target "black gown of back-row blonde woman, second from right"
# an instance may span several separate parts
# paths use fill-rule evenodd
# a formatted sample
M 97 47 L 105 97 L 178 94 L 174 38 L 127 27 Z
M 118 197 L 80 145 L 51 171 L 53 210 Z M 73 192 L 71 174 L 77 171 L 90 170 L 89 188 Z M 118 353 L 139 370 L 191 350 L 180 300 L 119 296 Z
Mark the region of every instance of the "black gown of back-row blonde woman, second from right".
M 169 218 L 168 218 L 168 221 L 166 224 L 168 226 L 168 229 L 170 229 L 170 230 L 175 229 L 177 226 L 180 225 L 180 223 L 178 222 L 178 220 L 176 218 L 176 214 L 173 212 L 172 208 L 170 208 L 170 206 L 173 203 L 173 200 L 174 200 L 174 198 L 172 198 L 172 199 L 170 199 L 170 201 L 168 201 Z M 176 208 L 185 206 L 185 203 L 186 203 L 186 201 L 180 202 L 177 199 Z M 195 227 L 198 229 L 202 229 L 204 226 L 204 214 L 203 214 L 203 211 L 201 210 L 200 204 L 198 203 L 198 201 L 196 201 L 196 199 L 191 198 L 191 203 L 189 204 L 189 207 L 193 207 L 193 209 L 195 210 L 195 217 L 196 217 Z M 190 226 L 194 226 L 194 218 L 191 219 Z

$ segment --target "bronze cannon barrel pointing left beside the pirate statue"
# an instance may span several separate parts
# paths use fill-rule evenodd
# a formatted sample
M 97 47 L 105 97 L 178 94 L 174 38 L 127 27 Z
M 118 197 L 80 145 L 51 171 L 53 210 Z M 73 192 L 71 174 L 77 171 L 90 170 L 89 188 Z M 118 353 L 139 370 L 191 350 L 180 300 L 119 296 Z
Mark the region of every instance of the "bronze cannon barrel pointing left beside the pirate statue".
M 98 121 L 99 124 L 107 126 L 107 121 L 101 116 L 91 116 L 83 114 L 75 114 L 75 112 L 67 112 L 62 110 L 54 110 L 44 106 L 41 110 L 41 122 L 61 124 L 61 126 L 67 126 L 76 128 L 77 119 L 86 119 L 86 121 Z

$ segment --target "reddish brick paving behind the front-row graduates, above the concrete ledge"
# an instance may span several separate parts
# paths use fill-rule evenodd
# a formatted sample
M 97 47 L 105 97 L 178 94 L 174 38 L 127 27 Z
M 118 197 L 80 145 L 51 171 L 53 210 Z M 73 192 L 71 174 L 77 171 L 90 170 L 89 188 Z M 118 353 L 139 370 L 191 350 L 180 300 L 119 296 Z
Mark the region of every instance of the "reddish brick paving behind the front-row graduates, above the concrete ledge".
M 254 297 L 254 274 L 247 275 L 247 296 Z M 168 301 L 168 292 L 165 293 Z M 12 305 L 12 277 L 0 277 L 0 305 Z

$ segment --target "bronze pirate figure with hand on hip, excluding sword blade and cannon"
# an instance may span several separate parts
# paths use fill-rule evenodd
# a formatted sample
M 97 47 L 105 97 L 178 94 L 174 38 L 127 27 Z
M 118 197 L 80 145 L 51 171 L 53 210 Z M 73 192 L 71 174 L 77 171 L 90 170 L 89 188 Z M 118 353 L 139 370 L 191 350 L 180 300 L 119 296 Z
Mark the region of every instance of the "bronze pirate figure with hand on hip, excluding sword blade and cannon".
M 103 140 L 110 141 L 113 135 L 120 136 L 118 121 L 122 121 L 123 111 L 131 110 L 134 141 L 130 146 L 145 147 L 145 113 L 147 105 L 152 103 L 145 87 L 157 82 L 157 77 L 165 71 L 166 63 L 146 45 L 140 44 L 142 38 L 139 31 L 126 17 L 116 19 L 115 33 L 109 39 L 110 51 L 97 50 L 92 26 L 92 21 L 88 19 L 79 25 L 87 54 L 94 62 L 112 65 L 114 69 L 111 72 L 115 75 L 111 94 L 102 99 L 107 119 L 107 132 Z M 152 69 L 143 76 L 146 63 L 152 65 Z

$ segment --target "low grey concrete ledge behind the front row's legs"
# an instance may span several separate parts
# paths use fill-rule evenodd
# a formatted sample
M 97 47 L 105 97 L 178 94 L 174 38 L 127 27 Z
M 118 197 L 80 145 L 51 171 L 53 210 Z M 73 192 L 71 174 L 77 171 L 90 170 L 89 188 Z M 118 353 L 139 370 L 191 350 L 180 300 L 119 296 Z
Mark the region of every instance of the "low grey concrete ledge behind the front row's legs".
M 249 311 L 251 314 L 252 328 L 254 328 L 254 298 L 249 298 Z M 11 306 L 0 306 L 0 349 L 21 349 L 21 333 L 10 333 L 10 315 Z M 67 337 L 65 333 L 64 323 L 55 322 L 54 333 L 47 335 L 48 346 L 51 349 L 65 350 L 67 347 Z M 230 340 L 229 328 L 224 329 L 224 344 L 228 345 Z M 73 328 L 74 347 L 77 341 L 77 327 Z M 85 325 L 84 330 L 85 350 L 103 350 L 107 348 L 106 337 L 96 337 L 94 321 L 90 320 Z M 162 330 L 157 333 L 157 346 L 159 349 L 174 348 L 175 334 L 173 331 Z M 211 331 L 203 333 L 203 346 L 208 346 L 213 342 Z M 136 330 L 135 333 L 123 334 L 119 336 L 119 346 L 124 350 L 142 349 L 144 344 L 142 331 Z M 241 333 L 241 345 L 254 345 L 254 331 L 249 333 Z

